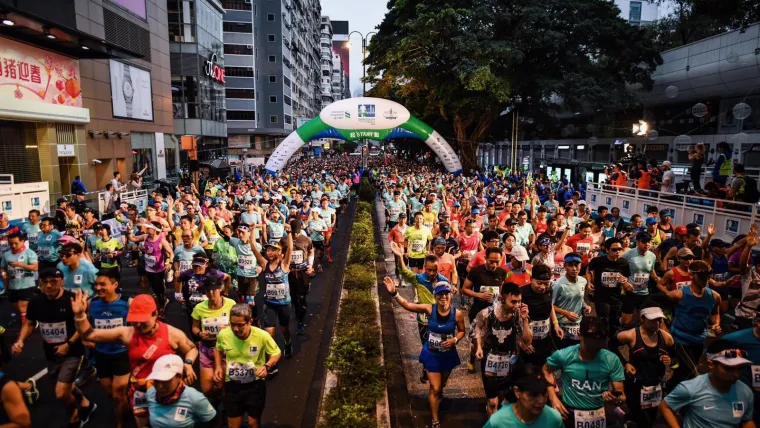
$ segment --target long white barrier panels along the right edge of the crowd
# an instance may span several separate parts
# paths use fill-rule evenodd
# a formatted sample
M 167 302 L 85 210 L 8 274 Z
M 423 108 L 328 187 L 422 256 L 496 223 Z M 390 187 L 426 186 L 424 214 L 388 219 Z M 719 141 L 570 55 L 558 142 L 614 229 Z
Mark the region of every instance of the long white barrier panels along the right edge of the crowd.
M 634 214 L 647 216 L 647 208 L 653 205 L 658 210 L 668 209 L 673 225 L 696 223 L 703 234 L 708 224 L 715 225 L 715 238 L 732 241 L 737 235 L 747 233 L 758 219 L 758 205 L 731 202 L 720 199 L 689 195 L 674 195 L 653 190 L 638 190 L 629 187 L 613 189 L 610 185 L 588 183 L 586 202 L 593 209 L 605 206 L 620 208 L 620 215 L 630 219 Z

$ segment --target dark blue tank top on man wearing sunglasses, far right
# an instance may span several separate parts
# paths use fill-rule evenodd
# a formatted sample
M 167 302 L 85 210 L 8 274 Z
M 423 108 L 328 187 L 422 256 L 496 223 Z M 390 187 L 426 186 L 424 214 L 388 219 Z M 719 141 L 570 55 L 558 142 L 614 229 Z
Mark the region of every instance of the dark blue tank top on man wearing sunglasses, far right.
M 715 307 L 715 296 L 706 287 L 697 297 L 691 287 L 683 288 L 683 298 L 676 305 L 671 334 L 676 343 L 702 345 L 707 337 L 707 322 Z

